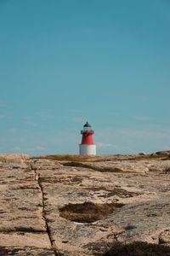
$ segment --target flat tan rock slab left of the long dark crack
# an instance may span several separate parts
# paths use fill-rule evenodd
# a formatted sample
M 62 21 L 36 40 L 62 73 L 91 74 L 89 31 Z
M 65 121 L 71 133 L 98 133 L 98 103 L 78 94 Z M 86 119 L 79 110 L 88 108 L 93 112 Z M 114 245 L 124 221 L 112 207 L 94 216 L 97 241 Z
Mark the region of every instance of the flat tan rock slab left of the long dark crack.
M 27 160 L 12 155 L 0 164 L 0 247 L 6 252 L 0 255 L 38 255 L 35 248 L 52 249 L 43 217 L 42 189 Z M 51 252 L 54 255 L 53 249 Z

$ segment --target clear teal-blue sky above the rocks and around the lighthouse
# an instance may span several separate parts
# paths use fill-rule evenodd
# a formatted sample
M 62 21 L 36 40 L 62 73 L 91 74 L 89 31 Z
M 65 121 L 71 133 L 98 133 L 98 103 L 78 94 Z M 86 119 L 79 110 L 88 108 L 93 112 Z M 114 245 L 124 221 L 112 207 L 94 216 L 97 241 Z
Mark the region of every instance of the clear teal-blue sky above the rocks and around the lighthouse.
M 169 0 L 0 0 L 0 152 L 170 149 Z

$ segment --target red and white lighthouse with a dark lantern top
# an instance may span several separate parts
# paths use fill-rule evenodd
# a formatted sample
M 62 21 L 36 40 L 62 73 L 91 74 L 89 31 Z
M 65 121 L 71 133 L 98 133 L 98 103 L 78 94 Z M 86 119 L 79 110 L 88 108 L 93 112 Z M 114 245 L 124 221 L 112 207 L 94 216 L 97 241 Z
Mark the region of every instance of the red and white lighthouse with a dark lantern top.
M 94 131 L 92 126 L 88 122 L 83 126 L 82 134 L 82 143 L 79 145 L 81 155 L 95 155 L 96 154 L 96 145 L 94 144 Z

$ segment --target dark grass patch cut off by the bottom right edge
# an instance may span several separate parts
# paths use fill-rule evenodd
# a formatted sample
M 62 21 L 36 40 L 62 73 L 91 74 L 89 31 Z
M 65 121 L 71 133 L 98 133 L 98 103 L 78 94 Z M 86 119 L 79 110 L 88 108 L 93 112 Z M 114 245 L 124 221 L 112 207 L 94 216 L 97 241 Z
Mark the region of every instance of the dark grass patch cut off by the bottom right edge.
M 98 254 L 95 254 L 98 255 Z M 170 247 L 134 241 L 130 244 L 116 243 L 103 256 L 166 256 L 170 255 Z

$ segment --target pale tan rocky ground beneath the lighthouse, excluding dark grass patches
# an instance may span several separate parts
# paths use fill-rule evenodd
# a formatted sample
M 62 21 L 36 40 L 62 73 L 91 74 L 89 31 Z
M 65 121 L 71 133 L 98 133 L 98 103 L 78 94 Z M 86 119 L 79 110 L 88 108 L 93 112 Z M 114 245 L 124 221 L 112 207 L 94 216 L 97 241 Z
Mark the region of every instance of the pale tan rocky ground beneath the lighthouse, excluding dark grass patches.
M 117 241 L 170 247 L 169 155 L 0 154 L 0 255 L 104 255 Z M 122 207 L 89 223 L 61 217 L 60 207 L 87 201 Z

